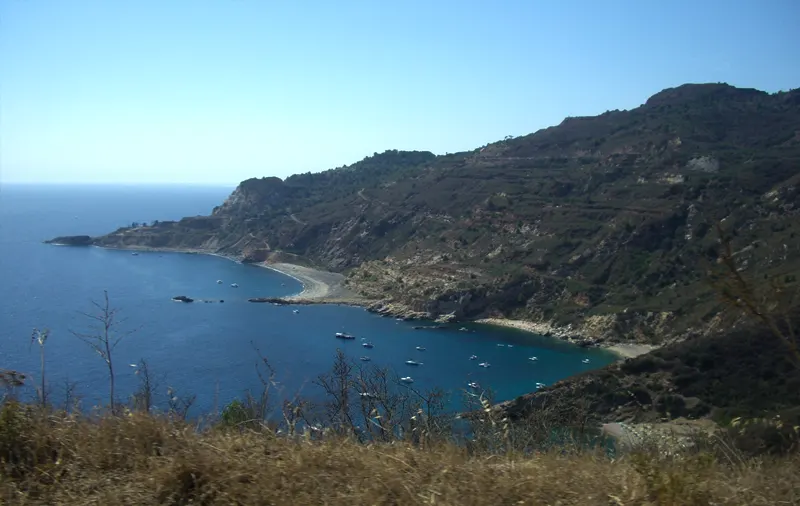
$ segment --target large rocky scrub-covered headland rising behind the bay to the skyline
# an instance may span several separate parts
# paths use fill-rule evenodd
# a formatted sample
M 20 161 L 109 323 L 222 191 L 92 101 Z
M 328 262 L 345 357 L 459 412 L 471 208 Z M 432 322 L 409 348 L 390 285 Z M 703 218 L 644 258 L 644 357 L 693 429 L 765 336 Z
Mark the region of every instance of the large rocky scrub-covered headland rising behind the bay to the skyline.
M 250 179 L 210 217 L 93 241 L 286 252 L 400 313 L 660 343 L 719 323 L 719 221 L 748 276 L 794 282 L 799 167 L 800 92 L 685 85 L 472 152 Z

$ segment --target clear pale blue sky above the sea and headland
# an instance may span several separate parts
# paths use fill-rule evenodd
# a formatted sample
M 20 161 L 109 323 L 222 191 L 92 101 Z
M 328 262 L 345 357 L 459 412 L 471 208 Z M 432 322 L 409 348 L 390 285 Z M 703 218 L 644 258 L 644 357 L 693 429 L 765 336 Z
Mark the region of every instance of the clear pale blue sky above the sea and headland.
M 236 183 L 663 88 L 800 87 L 800 1 L 0 2 L 0 182 Z

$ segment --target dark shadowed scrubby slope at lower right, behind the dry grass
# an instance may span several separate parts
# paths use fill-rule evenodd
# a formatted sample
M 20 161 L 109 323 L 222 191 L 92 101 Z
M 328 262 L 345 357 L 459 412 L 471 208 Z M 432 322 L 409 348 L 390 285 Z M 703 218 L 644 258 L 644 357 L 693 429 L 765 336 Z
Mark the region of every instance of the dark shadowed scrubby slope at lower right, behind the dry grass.
M 797 328 L 800 313 L 791 321 Z M 573 376 L 497 409 L 524 422 L 543 406 L 578 403 L 595 423 L 712 418 L 727 425 L 778 414 L 791 431 L 800 425 L 800 367 L 769 329 L 748 325 Z

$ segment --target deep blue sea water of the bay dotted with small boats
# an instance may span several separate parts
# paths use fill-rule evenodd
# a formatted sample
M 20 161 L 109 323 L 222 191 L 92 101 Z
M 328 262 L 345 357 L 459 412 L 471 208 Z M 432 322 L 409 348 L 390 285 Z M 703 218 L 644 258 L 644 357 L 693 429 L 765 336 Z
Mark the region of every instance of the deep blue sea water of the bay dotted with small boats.
M 31 330 L 48 328 L 47 378 L 51 399 L 63 396 L 65 381 L 77 383 L 84 405 L 104 402 L 105 364 L 72 335 L 91 322 L 80 312 L 92 309 L 107 290 L 112 306 L 126 318 L 121 331 L 133 331 L 117 347 L 117 394 L 135 390 L 137 376 L 128 364 L 145 359 L 168 387 L 196 394 L 194 414 L 241 397 L 260 385 L 253 345 L 277 372 L 282 392 L 318 395 L 313 380 L 328 370 L 337 348 L 357 363 L 396 369 L 414 386 L 441 387 L 461 398 L 470 381 L 490 387 L 496 400 L 511 399 L 614 360 L 602 350 L 583 350 L 514 330 L 472 325 L 475 332 L 413 330 L 419 322 L 399 322 L 361 308 L 252 304 L 248 297 L 297 293 L 294 279 L 260 267 L 222 258 L 178 253 L 141 253 L 42 244 L 57 235 L 98 235 L 133 221 L 178 219 L 207 214 L 232 188 L 191 186 L 17 186 L 0 187 L 0 368 L 23 371 L 38 381 L 38 349 Z M 217 279 L 224 284 L 216 283 Z M 239 288 L 230 287 L 238 283 Z M 172 302 L 174 295 L 224 299 L 213 304 Z M 334 332 L 356 335 L 341 341 Z M 361 337 L 373 342 L 367 350 Z M 504 346 L 498 346 L 504 345 Z M 506 346 L 511 345 L 511 346 Z M 426 351 L 417 351 L 423 346 Z M 475 354 L 480 358 L 470 361 Z M 528 360 L 537 356 L 537 362 Z M 582 359 L 589 358 L 584 364 Z M 415 359 L 422 366 L 411 367 Z M 490 368 L 478 367 L 487 361 Z M 216 400 L 215 400 L 216 399 Z M 160 404 L 163 407 L 163 399 Z

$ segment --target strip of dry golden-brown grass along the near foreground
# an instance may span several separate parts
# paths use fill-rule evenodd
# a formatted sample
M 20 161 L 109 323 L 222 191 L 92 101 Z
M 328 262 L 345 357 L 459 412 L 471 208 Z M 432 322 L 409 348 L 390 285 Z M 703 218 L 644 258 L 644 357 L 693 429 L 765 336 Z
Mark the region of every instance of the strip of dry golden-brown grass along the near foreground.
M 0 408 L 3 504 L 800 504 L 800 458 L 721 462 L 357 444 L 209 430 L 130 414 Z

